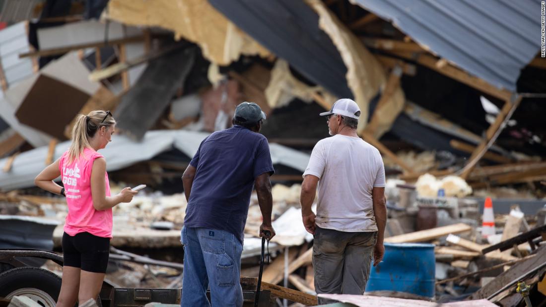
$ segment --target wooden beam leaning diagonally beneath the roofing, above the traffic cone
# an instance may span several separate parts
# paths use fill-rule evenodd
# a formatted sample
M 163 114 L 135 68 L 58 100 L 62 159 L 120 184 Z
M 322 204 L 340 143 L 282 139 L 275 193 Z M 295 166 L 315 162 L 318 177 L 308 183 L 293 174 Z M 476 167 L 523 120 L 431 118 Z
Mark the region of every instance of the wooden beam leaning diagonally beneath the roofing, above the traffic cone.
M 498 135 L 504 129 L 506 123 L 512 117 L 515 109 L 517 109 L 519 103 L 521 102 L 521 97 L 517 97 L 512 101 L 512 99 L 507 99 L 505 105 L 502 107 L 502 110 L 498 113 L 495 122 L 492 123 L 485 133 L 485 139 L 479 143 L 479 145 L 474 149 L 474 152 L 468 159 L 468 163 L 461 171 L 461 178 L 468 178 L 468 175 L 472 171 L 472 168 L 476 166 L 479 159 L 488 151 L 489 147 L 493 145 Z

